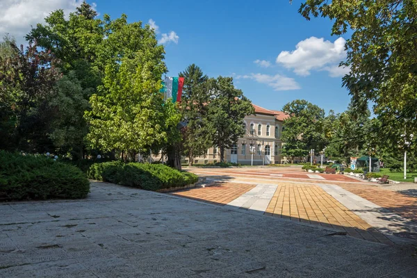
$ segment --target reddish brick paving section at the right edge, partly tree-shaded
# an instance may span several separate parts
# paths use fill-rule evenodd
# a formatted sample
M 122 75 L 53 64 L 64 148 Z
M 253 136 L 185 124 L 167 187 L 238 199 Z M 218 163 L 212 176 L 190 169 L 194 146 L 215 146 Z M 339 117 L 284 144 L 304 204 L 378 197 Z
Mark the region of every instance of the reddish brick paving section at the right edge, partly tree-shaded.
M 417 197 L 411 197 L 395 191 L 372 186 L 368 184 L 338 184 L 341 188 L 350 191 L 370 202 L 387 208 L 404 218 L 417 222 Z

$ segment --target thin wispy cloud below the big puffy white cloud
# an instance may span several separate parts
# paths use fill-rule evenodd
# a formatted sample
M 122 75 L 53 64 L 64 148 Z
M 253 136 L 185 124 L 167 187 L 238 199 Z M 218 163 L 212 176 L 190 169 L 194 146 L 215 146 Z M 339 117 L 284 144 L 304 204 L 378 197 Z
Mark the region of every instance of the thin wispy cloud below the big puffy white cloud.
M 238 75 L 236 79 L 252 79 L 258 83 L 266 84 L 275 91 L 286 90 L 298 90 L 301 89 L 300 84 L 291 77 L 287 77 L 281 74 L 268 75 L 268 74 L 248 74 Z

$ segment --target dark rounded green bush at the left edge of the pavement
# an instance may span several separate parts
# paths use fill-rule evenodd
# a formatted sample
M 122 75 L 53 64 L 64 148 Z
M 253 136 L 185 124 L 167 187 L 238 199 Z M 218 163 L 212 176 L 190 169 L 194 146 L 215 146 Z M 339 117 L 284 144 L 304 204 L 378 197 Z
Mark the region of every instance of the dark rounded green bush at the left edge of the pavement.
M 0 151 L 1 199 L 80 199 L 89 192 L 90 182 L 75 166 Z

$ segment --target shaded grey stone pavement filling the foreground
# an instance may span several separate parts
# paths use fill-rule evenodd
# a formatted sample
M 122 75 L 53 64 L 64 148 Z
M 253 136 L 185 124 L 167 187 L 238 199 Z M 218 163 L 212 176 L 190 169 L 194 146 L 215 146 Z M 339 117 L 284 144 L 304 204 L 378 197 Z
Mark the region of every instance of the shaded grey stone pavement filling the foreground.
M 417 268 L 408 246 L 108 183 L 92 183 L 88 199 L 0 211 L 0 277 L 413 277 Z

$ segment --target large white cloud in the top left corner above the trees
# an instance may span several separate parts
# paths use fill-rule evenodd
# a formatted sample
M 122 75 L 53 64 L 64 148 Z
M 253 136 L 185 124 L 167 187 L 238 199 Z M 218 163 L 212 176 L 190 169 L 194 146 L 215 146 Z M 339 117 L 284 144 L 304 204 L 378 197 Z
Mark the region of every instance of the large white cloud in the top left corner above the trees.
M 0 39 L 10 33 L 18 43 L 24 43 L 24 36 L 52 11 L 63 9 L 65 15 L 75 11 L 83 0 L 0 0 Z M 92 7 L 95 8 L 95 3 Z

